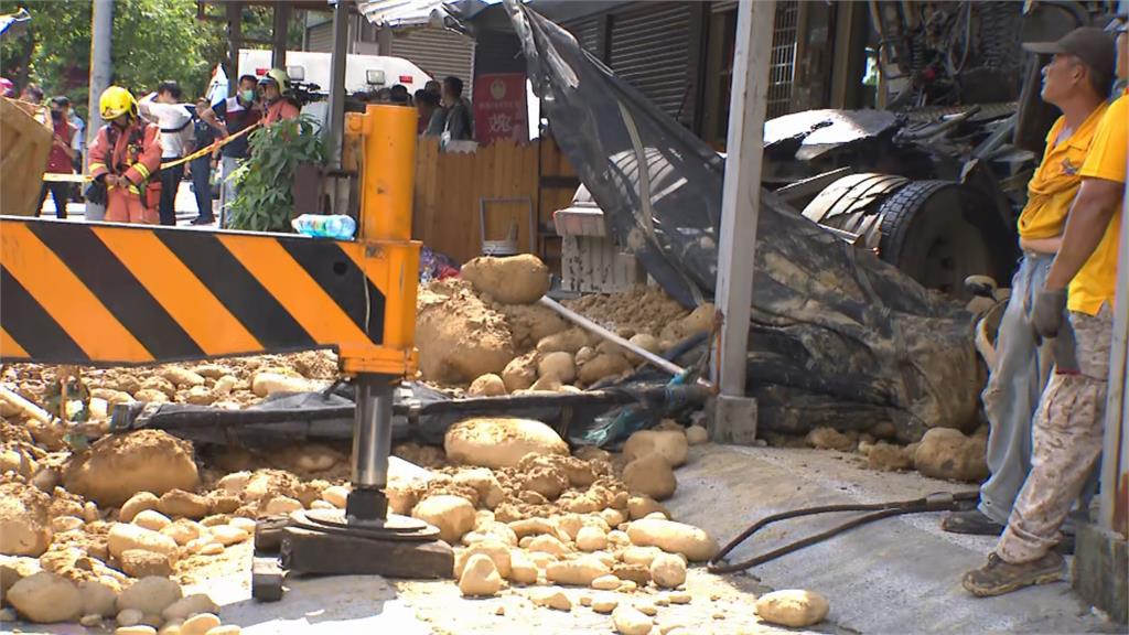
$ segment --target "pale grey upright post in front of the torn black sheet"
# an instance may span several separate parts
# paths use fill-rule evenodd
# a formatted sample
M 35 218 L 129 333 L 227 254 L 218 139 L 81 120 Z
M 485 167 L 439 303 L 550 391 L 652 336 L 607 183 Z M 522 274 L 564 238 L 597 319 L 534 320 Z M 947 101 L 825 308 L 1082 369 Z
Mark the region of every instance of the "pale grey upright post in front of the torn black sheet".
M 719 442 L 751 443 L 756 434 L 756 406 L 745 398 L 745 366 L 774 18 L 774 1 L 737 5 L 728 155 L 718 234 L 716 299 L 724 323 L 720 346 L 714 351 L 718 363 L 711 365 L 720 392 L 712 421 L 714 438 Z

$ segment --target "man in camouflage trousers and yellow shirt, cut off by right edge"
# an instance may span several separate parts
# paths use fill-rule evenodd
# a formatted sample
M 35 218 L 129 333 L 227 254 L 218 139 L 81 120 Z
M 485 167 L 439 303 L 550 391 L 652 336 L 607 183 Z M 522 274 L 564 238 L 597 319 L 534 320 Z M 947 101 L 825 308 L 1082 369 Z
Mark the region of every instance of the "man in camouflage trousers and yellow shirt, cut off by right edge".
M 1117 40 L 1118 77 L 1129 77 L 1124 21 Z M 964 588 L 998 595 L 1062 576 L 1053 551 L 1059 529 L 1102 453 L 1113 336 L 1121 207 L 1126 189 L 1129 95 L 1106 108 L 1079 174 L 1059 253 L 1035 298 L 1032 322 L 1045 338 L 1066 334 L 1069 311 L 1076 363 L 1056 367 L 1034 421 L 1031 473 L 988 564 L 965 574 Z

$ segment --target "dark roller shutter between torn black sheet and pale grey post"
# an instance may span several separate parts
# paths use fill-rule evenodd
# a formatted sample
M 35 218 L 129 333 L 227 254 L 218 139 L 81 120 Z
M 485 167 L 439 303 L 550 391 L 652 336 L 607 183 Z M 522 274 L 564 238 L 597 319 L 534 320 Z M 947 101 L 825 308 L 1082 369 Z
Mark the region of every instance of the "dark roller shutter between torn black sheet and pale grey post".
M 692 116 L 688 94 L 690 5 L 649 2 L 611 19 L 607 66 L 664 112 L 688 121 Z

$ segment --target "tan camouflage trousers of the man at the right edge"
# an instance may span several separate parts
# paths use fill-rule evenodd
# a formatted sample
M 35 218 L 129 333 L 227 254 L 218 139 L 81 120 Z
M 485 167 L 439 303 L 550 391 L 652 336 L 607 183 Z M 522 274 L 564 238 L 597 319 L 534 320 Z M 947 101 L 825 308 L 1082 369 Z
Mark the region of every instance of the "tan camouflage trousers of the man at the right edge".
M 1113 311 L 1070 313 L 1079 373 L 1054 373 L 1035 412 L 1031 473 L 1023 484 L 996 554 L 1008 563 L 1041 558 L 1102 454 Z

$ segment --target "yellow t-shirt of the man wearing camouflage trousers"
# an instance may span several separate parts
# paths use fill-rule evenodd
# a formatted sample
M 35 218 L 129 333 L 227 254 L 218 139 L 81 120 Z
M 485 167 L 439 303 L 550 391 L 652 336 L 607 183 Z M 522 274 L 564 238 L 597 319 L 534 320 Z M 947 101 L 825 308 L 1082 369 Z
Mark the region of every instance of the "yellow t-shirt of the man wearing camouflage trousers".
M 1089 154 L 1079 173 L 1083 179 L 1126 182 L 1126 146 L 1129 142 L 1129 94 L 1114 99 L 1094 133 Z M 1122 194 L 1123 195 L 1123 194 Z M 1070 311 L 1097 315 L 1103 303 L 1113 306 L 1118 279 L 1118 246 L 1121 242 L 1121 203 L 1097 249 L 1070 281 Z

